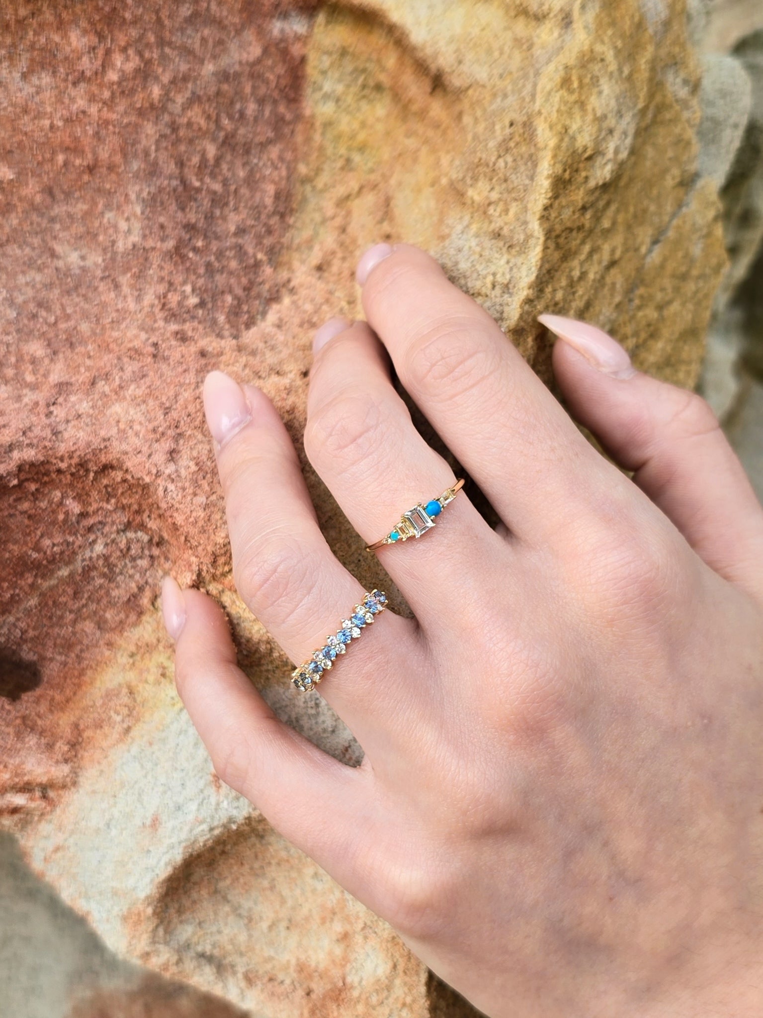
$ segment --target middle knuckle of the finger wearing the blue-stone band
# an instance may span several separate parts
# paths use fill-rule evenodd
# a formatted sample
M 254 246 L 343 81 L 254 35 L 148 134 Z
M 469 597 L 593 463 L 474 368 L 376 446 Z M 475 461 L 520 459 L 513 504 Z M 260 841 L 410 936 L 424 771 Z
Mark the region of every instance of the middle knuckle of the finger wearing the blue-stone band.
M 309 598 L 305 555 L 284 534 L 244 543 L 234 557 L 236 588 L 249 606 L 267 605 L 282 624 Z M 256 612 L 255 612 L 256 614 Z

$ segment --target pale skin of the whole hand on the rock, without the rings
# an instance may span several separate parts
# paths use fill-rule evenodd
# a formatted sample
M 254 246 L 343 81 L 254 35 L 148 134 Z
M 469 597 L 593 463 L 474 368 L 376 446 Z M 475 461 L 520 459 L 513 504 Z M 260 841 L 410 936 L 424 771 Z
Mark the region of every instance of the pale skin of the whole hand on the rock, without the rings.
M 428 254 L 378 253 L 367 324 L 314 357 L 310 462 L 367 543 L 453 484 L 392 361 L 503 524 L 462 492 L 376 552 L 415 618 L 385 612 L 318 687 L 355 769 L 273 715 L 220 608 L 168 578 L 217 773 L 486 1015 L 760 1015 L 763 510 L 739 461 L 699 397 L 551 322 L 570 412 L 631 478 Z M 265 394 L 216 374 L 204 401 L 236 585 L 298 664 L 362 587 Z

